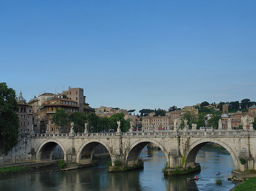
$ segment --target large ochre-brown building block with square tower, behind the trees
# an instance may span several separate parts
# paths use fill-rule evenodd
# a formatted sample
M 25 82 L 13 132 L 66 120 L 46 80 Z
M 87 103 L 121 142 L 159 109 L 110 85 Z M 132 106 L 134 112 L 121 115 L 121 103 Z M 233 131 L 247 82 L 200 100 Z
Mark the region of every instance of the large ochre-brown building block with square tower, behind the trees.
M 32 107 L 35 133 L 45 133 L 46 130 L 55 133 L 68 132 L 68 126 L 60 130 L 52 124 L 53 114 L 58 108 L 64 108 L 68 114 L 72 112 L 94 113 L 94 109 L 90 108 L 89 104 L 85 102 L 85 97 L 84 89 L 69 87 L 68 91 L 63 91 L 62 94 L 41 93 L 38 97 L 35 96 L 28 101 L 28 104 Z

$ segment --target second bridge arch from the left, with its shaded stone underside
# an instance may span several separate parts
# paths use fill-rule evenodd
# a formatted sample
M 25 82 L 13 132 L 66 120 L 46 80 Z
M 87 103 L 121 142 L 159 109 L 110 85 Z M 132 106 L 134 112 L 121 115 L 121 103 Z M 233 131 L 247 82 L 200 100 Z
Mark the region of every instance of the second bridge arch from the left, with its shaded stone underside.
M 105 141 L 97 140 L 97 141 L 86 141 L 82 143 L 82 145 L 77 150 L 76 162 L 77 163 L 89 163 L 92 162 L 93 152 L 96 146 L 103 145 L 106 150 L 108 150 L 110 158 L 111 158 L 111 150 Z

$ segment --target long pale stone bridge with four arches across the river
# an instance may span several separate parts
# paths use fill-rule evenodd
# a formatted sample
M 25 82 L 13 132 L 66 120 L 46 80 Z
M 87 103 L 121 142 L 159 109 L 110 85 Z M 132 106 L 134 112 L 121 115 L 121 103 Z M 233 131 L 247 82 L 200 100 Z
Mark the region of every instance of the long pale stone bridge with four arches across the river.
M 109 151 L 112 165 L 116 160 L 129 165 L 138 163 L 142 148 L 148 143 L 154 143 L 164 152 L 170 167 L 187 168 L 195 165 L 200 148 L 209 142 L 218 143 L 228 150 L 236 170 L 256 170 L 255 130 L 35 134 L 32 137 L 32 148 L 36 161 L 51 160 L 53 150 L 59 145 L 67 163 L 89 163 L 94 148 L 101 144 Z M 240 158 L 245 158 L 246 163 L 241 164 Z

